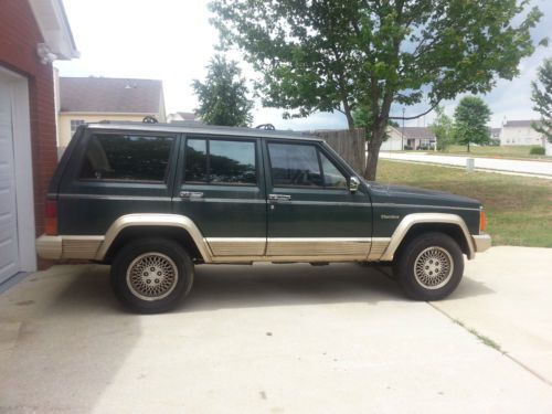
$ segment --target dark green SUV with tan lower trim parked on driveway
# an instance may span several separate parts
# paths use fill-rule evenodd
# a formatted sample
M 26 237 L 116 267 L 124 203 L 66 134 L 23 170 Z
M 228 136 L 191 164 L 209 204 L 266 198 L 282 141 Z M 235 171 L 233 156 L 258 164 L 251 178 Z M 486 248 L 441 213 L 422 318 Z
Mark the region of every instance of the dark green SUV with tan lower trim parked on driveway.
M 52 179 L 49 259 L 112 265 L 115 295 L 170 309 L 194 265 L 375 262 L 415 299 L 450 294 L 490 246 L 471 199 L 362 180 L 322 139 L 178 125 L 81 126 Z

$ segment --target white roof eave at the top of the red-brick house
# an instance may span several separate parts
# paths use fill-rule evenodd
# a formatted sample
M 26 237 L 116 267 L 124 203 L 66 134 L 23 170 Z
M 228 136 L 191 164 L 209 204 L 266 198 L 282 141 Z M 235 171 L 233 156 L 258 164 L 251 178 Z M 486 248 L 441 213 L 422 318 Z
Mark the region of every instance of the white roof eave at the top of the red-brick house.
M 46 50 L 54 60 L 78 57 L 75 40 L 61 0 L 29 0 Z M 52 61 L 50 61 L 52 62 Z

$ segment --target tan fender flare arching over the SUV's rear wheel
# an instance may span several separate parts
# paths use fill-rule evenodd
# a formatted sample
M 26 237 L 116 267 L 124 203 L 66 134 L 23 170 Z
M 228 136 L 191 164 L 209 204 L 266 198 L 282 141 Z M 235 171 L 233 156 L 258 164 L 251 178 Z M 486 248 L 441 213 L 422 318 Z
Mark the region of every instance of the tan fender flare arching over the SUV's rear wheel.
M 173 226 L 185 230 L 193 242 L 198 246 L 198 250 L 203 257 L 205 263 L 211 262 L 212 252 L 209 244 L 205 243 L 203 235 L 201 234 L 198 226 L 192 220 L 180 214 L 127 214 L 117 219 L 110 227 L 107 230 L 105 235 L 105 241 L 99 248 L 96 259 L 103 261 L 107 251 L 109 250 L 112 243 L 115 241 L 117 235 L 126 227 L 136 225 L 151 225 L 151 226 Z

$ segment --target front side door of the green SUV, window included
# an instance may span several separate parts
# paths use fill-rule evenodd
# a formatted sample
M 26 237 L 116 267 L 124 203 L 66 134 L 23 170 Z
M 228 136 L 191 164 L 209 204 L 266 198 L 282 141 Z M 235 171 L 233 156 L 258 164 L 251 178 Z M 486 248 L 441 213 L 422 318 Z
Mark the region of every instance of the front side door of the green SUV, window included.
M 370 198 L 349 191 L 350 173 L 317 141 L 269 140 L 268 256 L 365 259 L 372 233 Z

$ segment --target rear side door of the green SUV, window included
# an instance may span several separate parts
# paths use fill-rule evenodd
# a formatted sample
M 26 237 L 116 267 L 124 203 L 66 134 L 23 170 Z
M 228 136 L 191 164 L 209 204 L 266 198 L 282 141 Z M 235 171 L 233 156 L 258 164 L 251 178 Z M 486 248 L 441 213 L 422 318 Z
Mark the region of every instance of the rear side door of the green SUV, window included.
M 173 194 L 215 256 L 261 256 L 266 246 L 266 191 L 256 138 L 188 135 Z

